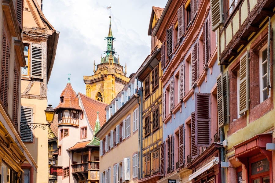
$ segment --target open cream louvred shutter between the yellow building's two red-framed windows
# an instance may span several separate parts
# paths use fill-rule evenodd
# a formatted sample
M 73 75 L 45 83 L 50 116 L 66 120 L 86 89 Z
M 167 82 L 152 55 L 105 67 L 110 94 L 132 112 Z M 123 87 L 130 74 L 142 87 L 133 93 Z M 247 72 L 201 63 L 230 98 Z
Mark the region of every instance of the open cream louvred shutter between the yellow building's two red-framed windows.
M 248 51 L 240 59 L 240 114 L 248 110 Z

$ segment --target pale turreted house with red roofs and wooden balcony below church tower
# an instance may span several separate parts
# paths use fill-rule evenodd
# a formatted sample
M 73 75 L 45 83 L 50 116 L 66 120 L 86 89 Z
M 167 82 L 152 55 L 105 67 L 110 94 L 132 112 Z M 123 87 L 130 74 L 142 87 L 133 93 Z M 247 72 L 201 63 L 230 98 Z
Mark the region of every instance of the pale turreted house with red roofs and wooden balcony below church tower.
M 58 126 L 58 166 L 64 176 L 57 182 L 99 182 L 99 141 L 94 133 L 105 121 L 107 105 L 78 93 L 68 82 L 54 109 Z M 97 142 L 98 141 L 98 142 Z

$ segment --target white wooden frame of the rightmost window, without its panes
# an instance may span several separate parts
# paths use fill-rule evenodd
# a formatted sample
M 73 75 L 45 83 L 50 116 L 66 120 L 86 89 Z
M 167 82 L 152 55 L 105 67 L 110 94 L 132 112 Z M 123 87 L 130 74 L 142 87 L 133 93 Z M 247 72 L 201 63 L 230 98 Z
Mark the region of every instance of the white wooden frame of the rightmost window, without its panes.
M 263 91 L 267 90 L 267 87 L 268 87 L 268 86 L 266 86 L 265 88 L 263 88 L 263 79 L 262 79 L 263 77 L 267 77 L 267 73 L 264 74 L 264 75 L 263 75 L 263 73 L 262 73 L 263 64 L 267 63 L 267 60 L 268 60 L 267 56 L 266 56 L 266 60 L 264 60 L 264 61 L 262 60 L 262 59 L 263 59 L 263 54 L 262 54 L 262 52 L 263 52 L 264 50 L 266 50 L 266 49 L 267 49 L 267 45 L 265 45 L 265 46 L 260 50 L 260 53 L 259 53 L 260 103 L 264 101 L 264 99 L 263 99 Z M 269 68 L 270 68 L 270 67 L 269 67 Z M 270 72 L 269 72 L 269 75 L 270 75 Z M 270 77 L 269 77 L 269 83 L 270 83 Z M 268 98 L 269 98 L 269 97 L 270 97 L 270 90 L 269 90 L 269 93 L 268 93 Z

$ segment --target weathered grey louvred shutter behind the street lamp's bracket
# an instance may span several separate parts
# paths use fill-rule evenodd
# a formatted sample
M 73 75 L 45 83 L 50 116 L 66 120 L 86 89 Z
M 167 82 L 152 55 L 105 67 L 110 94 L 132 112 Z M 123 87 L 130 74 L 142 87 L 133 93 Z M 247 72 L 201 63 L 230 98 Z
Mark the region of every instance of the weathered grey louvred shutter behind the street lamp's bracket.
M 23 142 L 32 142 L 33 135 L 29 124 L 32 124 L 32 108 L 21 106 L 20 135 Z M 28 124 L 27 124 L 28 123 Z

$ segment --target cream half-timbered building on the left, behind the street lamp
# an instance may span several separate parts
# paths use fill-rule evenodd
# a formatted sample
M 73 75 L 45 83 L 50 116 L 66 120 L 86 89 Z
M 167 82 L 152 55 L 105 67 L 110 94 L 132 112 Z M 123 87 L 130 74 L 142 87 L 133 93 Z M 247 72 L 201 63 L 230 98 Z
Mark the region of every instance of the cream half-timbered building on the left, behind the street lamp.
M 47 84 L 56 54 L 59 32 L 42 13 L 42 1 L 24 0 L 23 3 L 23 57 L 21 66 L 21 116 L 20 135 L 26 147 L 38 162 L 37 170 L 24 164 L 32 182 L 48 182 L 48 130 L 28 128 L 34 123 L 47 124 L 44 110 L 47 107 Z M 26 124 L 27 122 L 28 124 Z M 33 172 L 33 173 L 32 173 Z M 30 176 L 26 175 L 26 178 Z

